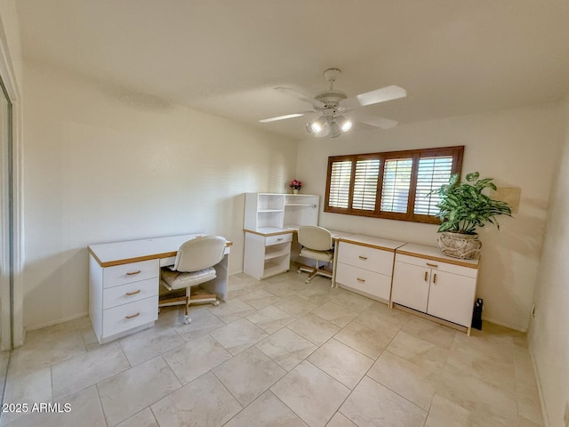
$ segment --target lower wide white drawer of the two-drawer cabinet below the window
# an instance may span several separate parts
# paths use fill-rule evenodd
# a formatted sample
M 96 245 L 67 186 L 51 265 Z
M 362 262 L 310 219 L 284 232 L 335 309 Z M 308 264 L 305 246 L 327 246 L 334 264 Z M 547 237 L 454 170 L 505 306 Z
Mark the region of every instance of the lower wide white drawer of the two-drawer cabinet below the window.
M 389 301 L 391 294 L 390 276 L 358 269 L 352 265 L 339 262 L 336 266 L 336 282 Z

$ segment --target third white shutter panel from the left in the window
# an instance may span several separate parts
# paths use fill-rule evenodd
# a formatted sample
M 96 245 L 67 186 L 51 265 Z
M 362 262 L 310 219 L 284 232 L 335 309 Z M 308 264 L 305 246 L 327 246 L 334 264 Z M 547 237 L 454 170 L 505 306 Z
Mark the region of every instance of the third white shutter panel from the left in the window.
M 394 158 L 383 166 L 383 187 L 381 189 L 381 211 L 407 212 L 413 158 Z

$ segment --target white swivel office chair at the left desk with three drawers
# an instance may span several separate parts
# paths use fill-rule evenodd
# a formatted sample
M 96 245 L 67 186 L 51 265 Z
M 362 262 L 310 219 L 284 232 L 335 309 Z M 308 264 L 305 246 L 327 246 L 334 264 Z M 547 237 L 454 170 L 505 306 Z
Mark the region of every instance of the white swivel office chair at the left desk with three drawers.
M 225 252 L 225 238 L 204 236 L 192 238 L 183 243 L 176 254 L 173 266 L 163 267 L 160 275 L 160 285 L 168 291 L 186 289 L 185 296 L 161 299 L 158 307 L 186 304 L 184 323 L 191 322 L 189 304 L 196 302 L 212 302 L 219 305 L 215 294 L 191 294 L 191 286 L 201 285 L 216 278 L 213 266 L 221 261 Z

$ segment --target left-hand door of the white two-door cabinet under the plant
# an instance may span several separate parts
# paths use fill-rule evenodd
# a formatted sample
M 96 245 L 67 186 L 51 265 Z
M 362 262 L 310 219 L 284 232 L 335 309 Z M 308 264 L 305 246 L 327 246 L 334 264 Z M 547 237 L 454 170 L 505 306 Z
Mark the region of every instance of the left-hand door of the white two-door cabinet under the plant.
M 430 270 L 423 267 L 396 262 L 393 270 L 391 299 L 410 309 L 427 311 Z

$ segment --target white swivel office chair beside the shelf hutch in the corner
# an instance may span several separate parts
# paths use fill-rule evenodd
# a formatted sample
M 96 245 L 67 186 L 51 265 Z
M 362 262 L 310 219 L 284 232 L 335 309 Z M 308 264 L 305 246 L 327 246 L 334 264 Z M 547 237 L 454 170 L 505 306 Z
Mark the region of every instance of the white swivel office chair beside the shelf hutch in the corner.
M 332 278 L 329 271 L 318 267 L 318 262 L 332 262 L 334 258 L 333 239 L 330 231 L 313 225 L 300 227 L 299 243 L 302 246 L 301 256 L 316 261 L 315 267 L 301 266 L 298 270 L 299 273 L 301 271 L 310 273 L 306 283 L 309 283 L 316 275 Z

